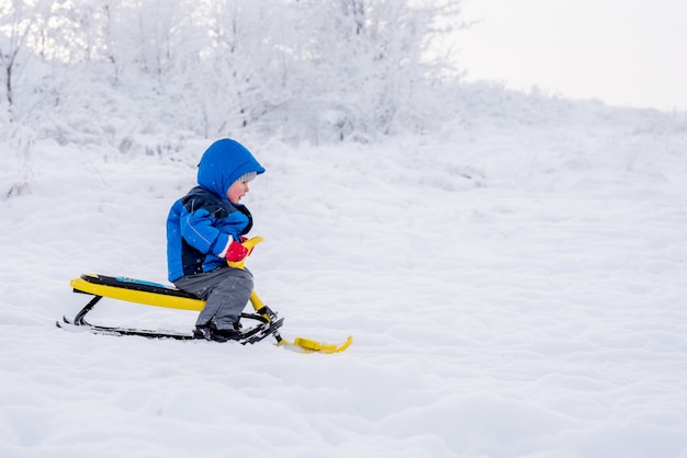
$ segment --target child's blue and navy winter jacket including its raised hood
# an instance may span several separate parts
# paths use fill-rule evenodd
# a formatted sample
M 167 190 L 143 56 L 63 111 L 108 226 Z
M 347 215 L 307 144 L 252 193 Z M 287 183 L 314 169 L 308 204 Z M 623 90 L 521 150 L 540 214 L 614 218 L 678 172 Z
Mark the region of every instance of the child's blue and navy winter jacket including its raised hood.
M 167 217 L 168 278 L 210 272 L 227 265 L 219 257 L 229 237 L 240 241 L 252 226 L 245 205 L 234 205 L 227 192 L 246 173 L 264 168 L 238 141 L 225 138 L 207 148 L 198 165 L 198 186 L 174 202 Z

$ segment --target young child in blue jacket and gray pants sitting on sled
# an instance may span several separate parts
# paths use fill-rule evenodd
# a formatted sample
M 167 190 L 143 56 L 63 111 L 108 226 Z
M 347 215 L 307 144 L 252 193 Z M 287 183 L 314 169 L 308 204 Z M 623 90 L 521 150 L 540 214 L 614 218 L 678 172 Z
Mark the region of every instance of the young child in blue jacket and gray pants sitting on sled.
M 198 186 L 174 202 L 167 218 L 169 280 L 206 300 L 195 322 L 196 339 L 239 337 L 240 313 L 252 291 L 252 275 L 229 267 L 249 251 L 243 236 L 252 216 L 239 202 L 264 169 L 238 141 L 215 141 L 198 165 Z

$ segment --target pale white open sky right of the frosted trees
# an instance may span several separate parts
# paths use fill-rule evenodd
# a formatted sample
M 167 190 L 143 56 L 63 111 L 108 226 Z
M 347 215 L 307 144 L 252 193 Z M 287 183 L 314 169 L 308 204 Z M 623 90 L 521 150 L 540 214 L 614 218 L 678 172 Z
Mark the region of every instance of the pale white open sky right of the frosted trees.
M 468 80 L 687 110 L 687 0 L 464 0 Z

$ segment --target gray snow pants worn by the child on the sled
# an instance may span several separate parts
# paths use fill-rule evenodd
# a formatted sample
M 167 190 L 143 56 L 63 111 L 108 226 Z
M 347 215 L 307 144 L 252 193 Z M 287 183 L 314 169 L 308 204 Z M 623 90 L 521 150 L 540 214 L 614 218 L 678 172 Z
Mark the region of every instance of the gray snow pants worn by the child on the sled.
M 222 267 L 187 275 L 174 286 L 206 300 L 196 325 L 207 325 L 214 319 L 217 329 L 233 330 L 252 293 L 252 274 L 247 268 Z

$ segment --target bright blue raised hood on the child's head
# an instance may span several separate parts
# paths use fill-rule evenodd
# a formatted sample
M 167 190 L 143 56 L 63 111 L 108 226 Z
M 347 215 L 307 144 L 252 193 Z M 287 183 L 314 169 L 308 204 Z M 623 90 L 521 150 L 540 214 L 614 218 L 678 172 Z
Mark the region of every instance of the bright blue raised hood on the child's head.
M 258 174 L 264 168 L 241 144 L 229 138 L 217 140 L 207 148 L 198 164 L 198 184 L 223 201 L 236 180 L 249 172 Z

